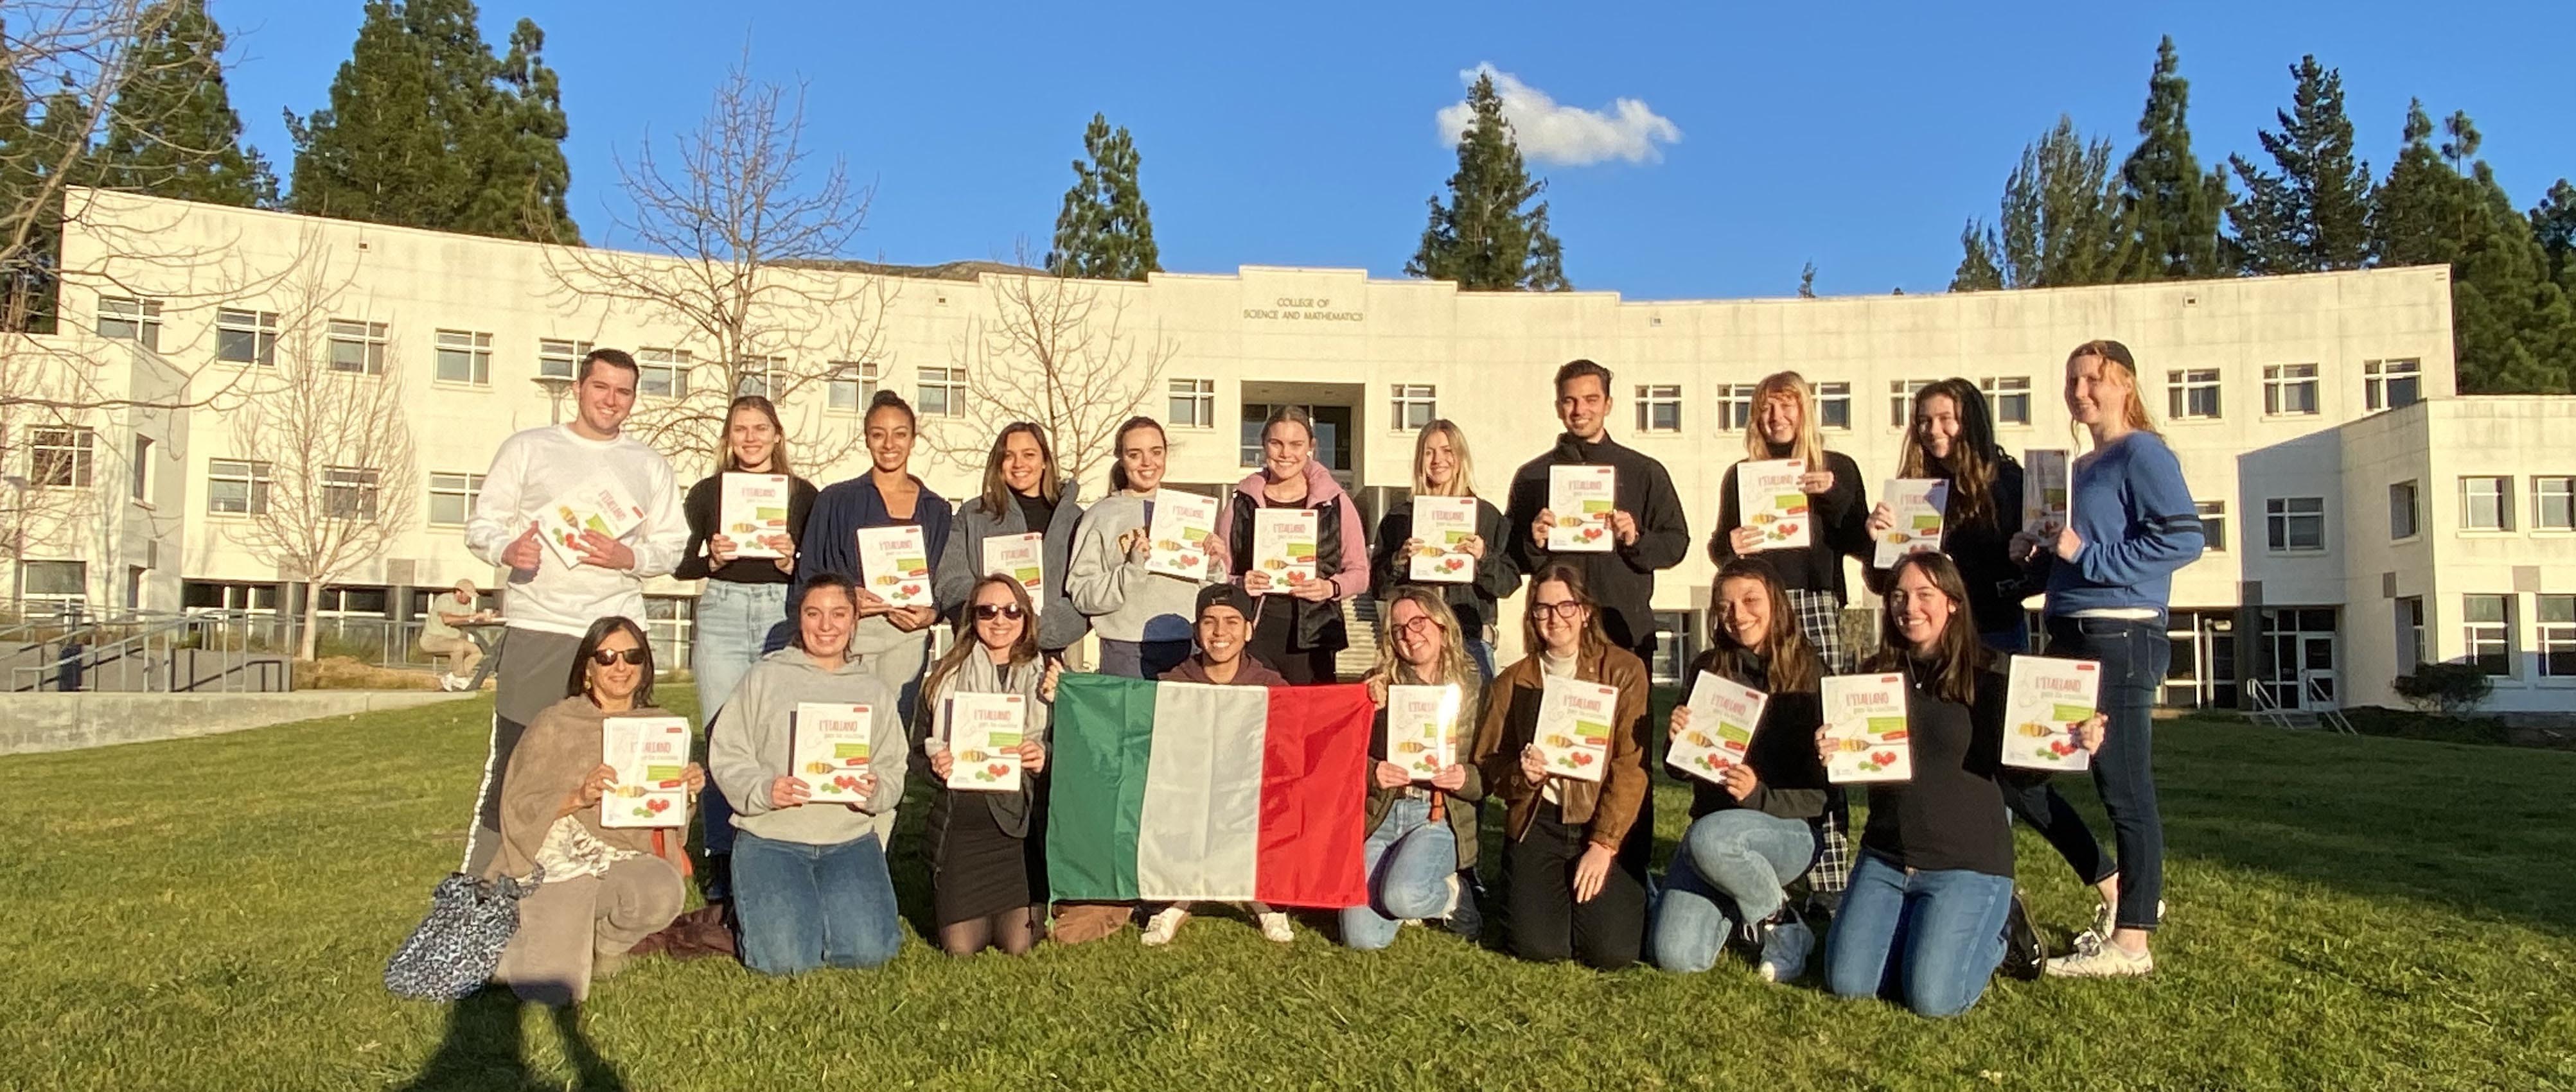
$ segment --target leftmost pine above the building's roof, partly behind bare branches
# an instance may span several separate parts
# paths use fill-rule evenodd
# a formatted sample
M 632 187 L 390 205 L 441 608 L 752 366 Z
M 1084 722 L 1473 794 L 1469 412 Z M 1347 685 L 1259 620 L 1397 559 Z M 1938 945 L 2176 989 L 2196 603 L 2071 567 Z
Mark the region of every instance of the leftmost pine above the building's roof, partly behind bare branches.
M 224 28 L 206 0 L 162 0 L 139 18 L 134 67 L 95 152 L 98 183 L 227 206 L 276 206 L 268 160 L 242 149 L 224 90 Z

